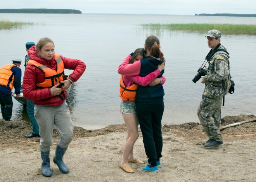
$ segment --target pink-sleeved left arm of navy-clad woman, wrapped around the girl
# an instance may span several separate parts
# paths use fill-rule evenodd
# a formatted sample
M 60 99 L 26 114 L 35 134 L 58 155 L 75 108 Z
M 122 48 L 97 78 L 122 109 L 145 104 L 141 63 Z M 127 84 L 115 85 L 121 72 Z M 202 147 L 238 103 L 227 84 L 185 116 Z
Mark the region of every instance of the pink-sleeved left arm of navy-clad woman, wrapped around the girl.
M 130 59 L 131 55 L 129 54 L 119 65 L 118 73 L 120 75 L 135 76 L 140 74 L 140 60 L 134 62 L 133 64 L 129 64 Z

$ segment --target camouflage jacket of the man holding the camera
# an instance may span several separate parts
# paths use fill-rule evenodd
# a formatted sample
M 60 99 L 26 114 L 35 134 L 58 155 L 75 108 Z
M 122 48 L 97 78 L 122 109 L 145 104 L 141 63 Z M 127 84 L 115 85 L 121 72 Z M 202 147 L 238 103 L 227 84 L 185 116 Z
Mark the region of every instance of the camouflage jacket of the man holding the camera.
M 220 45 L 218 49 L 225 49 Z M 230 65 L 229 55 L 224 51 L 216 52 L 209 60 L 209 67 L 207 75 L 204 76 L 206 80 L 204 88 L 204 97 L 218 98 L 223 97 L 228 93 L 230 88 Z

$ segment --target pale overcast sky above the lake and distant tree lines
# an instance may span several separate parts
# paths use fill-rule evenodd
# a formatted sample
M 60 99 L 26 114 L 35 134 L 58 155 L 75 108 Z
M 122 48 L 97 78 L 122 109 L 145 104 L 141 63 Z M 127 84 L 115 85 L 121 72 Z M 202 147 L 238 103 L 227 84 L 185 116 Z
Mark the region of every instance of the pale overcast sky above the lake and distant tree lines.
M 0 9 L 22 8 L 113 14 L 256 14 L 256 0 L 0 0 Z

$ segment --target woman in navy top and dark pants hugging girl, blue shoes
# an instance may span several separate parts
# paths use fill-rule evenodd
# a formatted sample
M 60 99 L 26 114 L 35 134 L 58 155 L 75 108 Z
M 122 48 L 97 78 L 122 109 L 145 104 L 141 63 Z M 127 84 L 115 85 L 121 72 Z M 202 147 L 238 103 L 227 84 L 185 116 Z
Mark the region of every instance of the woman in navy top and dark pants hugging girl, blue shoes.
M 147 51 L 145 58 L 133 64 L 121 63 L 118 73 L 121 75 L 140 75 L 145 77 L 157 69 L 161 63 L 165 63 L 164 54 L 160 50 L 160 42 L 156 36 L 149 36 L 145 40 L 144 49 Z M 157 76 L 163 76 L 164 70 Z M 161 82 L 161 79 L 160 79 Z M 136 93 L 137 116 L 142 131 L 143 143 L 149 165 L 142 168 L 144 171 L 157 172 L 161 165 L 163 138 L 162 138 L 162 117 L 164 112 L 164 89 L 163 85 L 157 84 L 154 87 L 149 85 L 138 85 Z

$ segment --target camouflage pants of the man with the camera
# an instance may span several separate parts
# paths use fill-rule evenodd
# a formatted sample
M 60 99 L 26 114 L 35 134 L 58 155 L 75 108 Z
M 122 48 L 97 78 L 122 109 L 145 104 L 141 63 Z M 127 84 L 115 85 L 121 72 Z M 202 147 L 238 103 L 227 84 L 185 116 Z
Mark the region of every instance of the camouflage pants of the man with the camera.
M 222 97 L 212 99 L 206 98 L 203 95 L 197 110 L 197 116 L 205 133 L 210 139 L 216 141 L 222 141 L 222 136 L 220 134 L 221 101 Z

